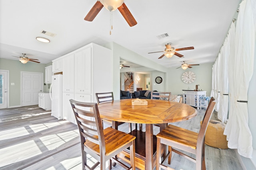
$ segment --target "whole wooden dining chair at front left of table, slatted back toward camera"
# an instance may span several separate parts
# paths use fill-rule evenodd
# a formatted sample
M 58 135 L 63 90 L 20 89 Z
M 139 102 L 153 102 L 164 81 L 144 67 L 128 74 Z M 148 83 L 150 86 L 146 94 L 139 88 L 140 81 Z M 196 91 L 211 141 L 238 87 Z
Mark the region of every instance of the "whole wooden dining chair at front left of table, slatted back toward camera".
M 135 138 L 132 135 L 118 131 L 111 127 L 103 129 L 98 105 L 96 103 L 85 103 L 70 100 L 74 111 L 78 130 L 80 133 L 82 166 L 83 170 L 92 170 L 100 164 L 100 170 L 106 170 L 106 161 L 108 168 L 112 168 L 112 161 L 120 164 L 123 168 L 135 170 Z M 130 166 L 124 165 L 116 156 L 122 150 L 130 147 Z M 90 154 L 98 162 L 89 166 L 86 154 Z

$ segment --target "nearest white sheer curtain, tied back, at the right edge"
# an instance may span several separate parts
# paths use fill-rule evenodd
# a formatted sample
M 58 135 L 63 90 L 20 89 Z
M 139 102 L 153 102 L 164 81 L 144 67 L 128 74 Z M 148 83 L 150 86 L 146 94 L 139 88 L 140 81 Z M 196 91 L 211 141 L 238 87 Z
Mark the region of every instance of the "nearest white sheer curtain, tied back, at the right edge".
M 242 156 L 252 156 L 252 134 L 248 127 L 247 92 L 253 73 L 255 21 L 251 0 L 240 3 L 236 23 L 234 65 L 229 68 L 230 111 L 224 135 L 227 135 L 228 147 L 238 149 Z M 233 69 L 232 69 L 233 68 Z M 230 70 L 232 69 L 232 70 Z M 240 101 L 240 102 L 238 102 Z

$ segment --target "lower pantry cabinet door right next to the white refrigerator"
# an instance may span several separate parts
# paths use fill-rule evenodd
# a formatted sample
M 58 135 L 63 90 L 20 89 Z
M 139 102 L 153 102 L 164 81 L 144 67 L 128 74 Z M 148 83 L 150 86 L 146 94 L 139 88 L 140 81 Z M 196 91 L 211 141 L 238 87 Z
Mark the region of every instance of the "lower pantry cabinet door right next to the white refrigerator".
M 62 98 L 63 98 L 63 106 L 62 106 L 63 119 L 66 119 L 67 121 L 75 123 L 75 116 L 69 102 L 70 99 L 74 99 L 74 93 L 63 93 Z

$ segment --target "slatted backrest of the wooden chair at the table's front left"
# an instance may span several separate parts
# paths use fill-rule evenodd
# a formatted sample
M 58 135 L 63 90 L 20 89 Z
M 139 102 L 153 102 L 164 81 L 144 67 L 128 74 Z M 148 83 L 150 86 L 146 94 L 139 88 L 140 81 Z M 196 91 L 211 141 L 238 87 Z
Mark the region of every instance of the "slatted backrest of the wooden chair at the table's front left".
M 101 149 L 105 149 L 103 127 L 98 105 L 96 103 L 78 102 L 72 99 L 70 100 L 70 104 L 78 125 L 81 145 L 84 145 L 84 142 L 89 140 L 100 145 Z

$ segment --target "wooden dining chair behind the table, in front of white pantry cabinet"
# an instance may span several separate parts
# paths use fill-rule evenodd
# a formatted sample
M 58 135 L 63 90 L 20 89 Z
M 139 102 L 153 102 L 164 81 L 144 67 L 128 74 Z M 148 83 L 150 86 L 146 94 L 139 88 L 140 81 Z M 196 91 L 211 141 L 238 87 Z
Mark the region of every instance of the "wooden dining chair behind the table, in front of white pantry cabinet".
M 108 102 L 108 101 L 114 101 L 114 95 L 113 92 L 106 92 L 106 93 L 95 93 L 96 99 L 98 104 L 101 102 Z M 110 126 L 112 126 L 112 121 L 108 119 L 102 119 L 102 121 Z M 115 129 L 118 129 L 119 125 L 122 125 L 125 122 L 115 121 Z

